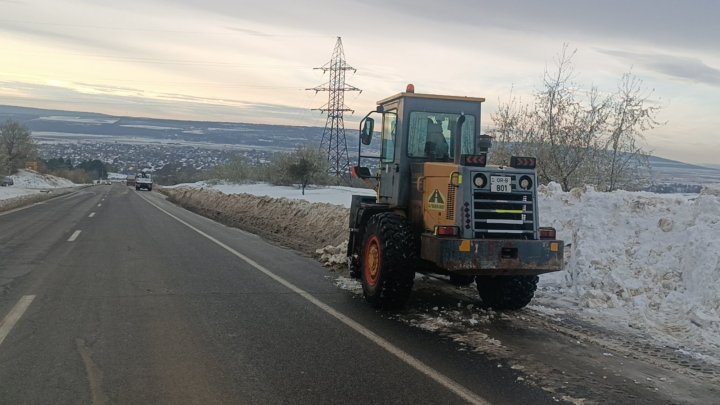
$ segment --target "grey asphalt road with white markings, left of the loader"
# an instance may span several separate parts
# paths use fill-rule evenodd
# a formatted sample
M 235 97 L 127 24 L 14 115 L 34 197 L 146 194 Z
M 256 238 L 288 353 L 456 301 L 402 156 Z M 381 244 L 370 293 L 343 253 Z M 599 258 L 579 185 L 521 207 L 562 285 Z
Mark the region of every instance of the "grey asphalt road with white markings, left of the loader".
M 556 403 L 315 260 L 121 185 L 0 213 L 0 322 L 1 404 Z

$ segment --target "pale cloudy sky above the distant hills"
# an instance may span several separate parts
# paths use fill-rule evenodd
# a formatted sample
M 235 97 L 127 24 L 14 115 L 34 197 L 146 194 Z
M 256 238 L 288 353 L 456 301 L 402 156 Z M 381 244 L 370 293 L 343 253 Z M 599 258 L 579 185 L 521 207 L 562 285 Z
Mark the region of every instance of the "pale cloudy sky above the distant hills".
M 632 71 L 664 123 L 653 154 L 720 163 L 717 0 L 0 0 L 0 104 L 322 126 L 313 69 L 342 37 L 346 127 L 401 92 L 531 101 L 563 45 L 578 88 Z

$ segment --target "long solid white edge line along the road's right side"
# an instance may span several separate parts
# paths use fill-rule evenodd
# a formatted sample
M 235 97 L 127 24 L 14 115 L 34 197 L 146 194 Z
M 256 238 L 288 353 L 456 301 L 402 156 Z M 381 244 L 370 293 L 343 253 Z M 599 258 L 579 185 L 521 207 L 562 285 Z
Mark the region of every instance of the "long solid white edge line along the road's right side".
M 193 231 L 197 232 L 198 234 L 204 236 L 205 238 L 209 239 L 216 245 L 220 246 L 221 248 L 227 250 L 231 254 L 235 255 L 239 259 L 243 260 L 247 264 L 251 265 L 255 269 L 259 270 L 260 272 L 264 273 L 268 277 L 272 278 L 273 280 L 277 281 L 278 283 L 282 284 L 283 286 L 287 287 L 291 291 L 295 292 L 296 294 L 300 295 L 301 297 L 305 298 L 307 301 L 312 303 L 313 305 L 317 306 L 321 310 L 325 311 L 335 319 L 339 320 L 340 322 L 344 323 L 346 326 L 350 327 L 357 333 L 365 336 L 367 339 L 375 343 L 376 345 L 380 346 L 381 348 L 385 349 L 389 353 L 393 354 L 395 357 L 399 358 L 415 370 L 419 371 L 422 374 L 425 374 L 438 384 L 442 385 L 443 387 L 449 389 L 454 394 L 462 398 L 463 400 L 471 403 L 471 404 L 478 404 L 478 405 L 489 405 L 490 402 L 479 395 L 475 394 L 474 392 L 470 391 L 469 389 L 465 388 L 464 386 L 460 385 L 459 383 L 452 380 L 450 377 L 445 376 L 441 372 L 435 370 L 434 368 L 428 366 L 427 364 L 423 363 L 422 361 L 418 360 L 417 358 L 413 357 L 411 354 L 407 353 L 406 351 L 400 349 L 399 347 L 393 345 L 389 341 L 383 339 L 382 337 L 378 336 L 375 332 L 371 331 L 370 329 L 362 326 L 358 322 L 354 321 L 353 319 L 350 319 L 349 317 L 341 314 L 340 312 L 336 311 L 334 308 L 330 307 L 329 305 L 325 304 L 324 302 L 318 300 L 315 298 L 312 294 L 308 293 L 307 291 L 301 289 L 300 287 L 297 287 L 295 284 L 290 283 L 289 281 L 285 280 L 284 278 L 278 276 L 277 274 L 273 273 L 272 271 L 268 270 L 267 268 L 263 267 L 256 261 L 252 260 L 251 258 L 245 256 L 244 254 L 236 251 L 235 249 L 231 248 L 230 246 L 220 242 L 218 239 L 215 239 L 214 237 L 208 235 L 207 233 L 195 228 L 194 226 L 190 225 L 189 223 L 183 221 L 182 219 L 176 217 L 175 215 L 171 214 L 170 212 L 166 211 L 165 209 L 161 208 L 160 206 L 156 205 L 155 203 L 151 202 L 150 200 L 143 197 L 145 201 L 147 201 L 150 205 L 153 207 L 159 209 L 160 211 L 164 212 L 171 218 L 175 219 L 176 221 L 180 222 L 181 224 L 187 226 L 188 228 L 192 229 Z

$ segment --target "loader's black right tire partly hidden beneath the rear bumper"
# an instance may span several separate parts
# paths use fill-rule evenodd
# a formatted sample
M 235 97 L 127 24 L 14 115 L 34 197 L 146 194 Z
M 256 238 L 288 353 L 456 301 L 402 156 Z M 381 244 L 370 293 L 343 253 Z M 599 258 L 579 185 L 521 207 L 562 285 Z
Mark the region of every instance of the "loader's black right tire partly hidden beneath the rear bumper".
M 538 276 L 478 276 L 475 282 L 483 306 L 504 310 L 520 309 L 529 304 L 538 280 Z

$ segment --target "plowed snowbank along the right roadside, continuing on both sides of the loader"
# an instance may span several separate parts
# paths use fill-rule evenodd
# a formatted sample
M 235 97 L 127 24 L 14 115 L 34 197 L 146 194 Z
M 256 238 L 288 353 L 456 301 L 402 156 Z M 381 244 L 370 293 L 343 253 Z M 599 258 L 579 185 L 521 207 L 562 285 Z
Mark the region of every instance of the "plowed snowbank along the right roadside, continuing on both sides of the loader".
M 272 187 L 257 189 L 274 195 Z M 336 246 L 318 253 L 324 262 L 345 262 L 344 246 L 337 245 L 347 239 L 347 208 L 197 189 L 166 193 L 210 217 L 271 229 L 305 248 Z M 533 309 L 633 328 L 698 353 L 720 352 L 720 186 L 686 196 L 563 192 L 550 184 L 540 188 L 539 204 L 542 224 L 570 245 L 565 271 L 540 277 Z

